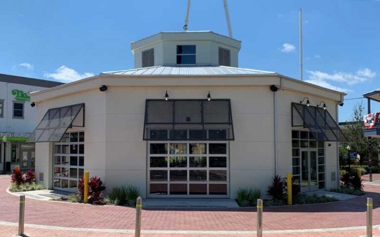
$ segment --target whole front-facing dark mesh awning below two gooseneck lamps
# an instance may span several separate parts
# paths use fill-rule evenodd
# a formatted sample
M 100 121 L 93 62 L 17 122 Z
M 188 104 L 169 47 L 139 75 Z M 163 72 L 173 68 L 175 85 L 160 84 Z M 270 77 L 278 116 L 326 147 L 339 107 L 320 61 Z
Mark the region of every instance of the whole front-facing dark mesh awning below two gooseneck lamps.
M 146 100 L 144 140 L 234 140 L 231 101 Z

